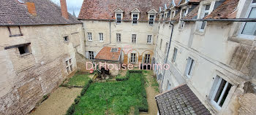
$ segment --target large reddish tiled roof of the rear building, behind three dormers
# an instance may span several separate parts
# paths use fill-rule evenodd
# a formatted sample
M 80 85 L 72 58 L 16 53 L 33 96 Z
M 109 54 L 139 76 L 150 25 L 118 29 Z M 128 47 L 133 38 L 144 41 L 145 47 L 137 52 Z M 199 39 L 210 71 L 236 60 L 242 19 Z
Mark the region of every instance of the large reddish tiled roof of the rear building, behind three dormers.
M 151 9 L 159 11 L 159 7 L 170 4 L 171 0 L 84 0 L 78 19 L 84 20 L 113 20 L 115 9 L 124 11 L 123 20 L 131 20 L 132 9 L 140 10 L 139 20 L 148 20 L 147 12 Z

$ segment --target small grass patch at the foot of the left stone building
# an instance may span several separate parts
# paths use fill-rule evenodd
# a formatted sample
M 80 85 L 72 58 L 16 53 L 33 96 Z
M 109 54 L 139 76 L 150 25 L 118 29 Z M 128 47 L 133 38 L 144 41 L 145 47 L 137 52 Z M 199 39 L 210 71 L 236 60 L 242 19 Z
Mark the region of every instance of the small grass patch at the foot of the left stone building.
M 69 79 L 67 85 L 69 86 L 84 86 L 89 82 L 89 74 L 75 74 Z

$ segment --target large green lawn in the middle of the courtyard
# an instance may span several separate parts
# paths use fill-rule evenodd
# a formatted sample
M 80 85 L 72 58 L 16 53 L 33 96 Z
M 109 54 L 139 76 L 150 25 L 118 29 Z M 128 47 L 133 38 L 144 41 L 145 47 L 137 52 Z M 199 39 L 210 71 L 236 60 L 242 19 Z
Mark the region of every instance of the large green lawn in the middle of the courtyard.
M 145 101 L 143 74 L 131 73 L 126 81 L 91 84 L 75 106 L 74 114 L 129 114 L 130 108 L 135 108 L 133 112 L 139 108 L 147 110 Z

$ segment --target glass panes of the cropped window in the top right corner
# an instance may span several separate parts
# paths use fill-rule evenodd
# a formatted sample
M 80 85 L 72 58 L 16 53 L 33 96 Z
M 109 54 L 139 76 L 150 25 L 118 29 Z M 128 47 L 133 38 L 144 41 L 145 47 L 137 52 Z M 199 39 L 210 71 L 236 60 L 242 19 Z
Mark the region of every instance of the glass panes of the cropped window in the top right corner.
M 248 18 L 256 18 L 256 7 L 253 7 Z M 244 25 L 242 34 L 256 36 L 256 23 L 247 22 Z

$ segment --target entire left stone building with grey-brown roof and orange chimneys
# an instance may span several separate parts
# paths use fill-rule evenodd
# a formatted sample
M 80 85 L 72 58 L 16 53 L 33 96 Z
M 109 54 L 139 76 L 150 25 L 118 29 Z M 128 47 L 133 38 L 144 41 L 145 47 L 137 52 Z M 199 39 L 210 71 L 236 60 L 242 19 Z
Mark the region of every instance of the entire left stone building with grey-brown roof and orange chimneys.
M 0 114 L 27 114 L 85 56 L 82 23 L 49 0 L 0 1 Z

